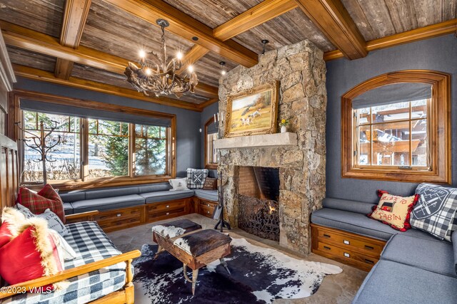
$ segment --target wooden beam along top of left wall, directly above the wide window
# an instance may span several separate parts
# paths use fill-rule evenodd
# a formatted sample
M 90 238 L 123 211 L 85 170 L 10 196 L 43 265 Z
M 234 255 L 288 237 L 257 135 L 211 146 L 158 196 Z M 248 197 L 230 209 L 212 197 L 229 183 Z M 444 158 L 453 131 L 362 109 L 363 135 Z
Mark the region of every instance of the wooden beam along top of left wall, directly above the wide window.
M 84 90 L 93 90 L 99 93 L 106 93 L 111 95 L 117 95 L 126 98 L 133 98 L 137 100 L 144 100 L 150 103 L 157 103 L 159 105 L 169 105 L 171 107 L 182 108 L 186 110 L 192 110 L 201 112 L 201 107 L 194 103 L 188 103 L 183 100 L 176 100 L 167 97 L 152 98 L 145 96 L 143 93 L 139 93 L 136 90 L 130 90 L 127 88 L 117 87 L 116 85 L 106 85 L 104 83 L 97 83 L 92 80 L 85 80 L 76 77 L 70 77 L 69 80 L 56 78 L 54 73 L 47 72 L 46 70 L 39 70 L 37 68 L 29 68 L 24 65 L 13 65 L 14 73 L 16 76 L 29 78 L 33 80 L 45 81 L 47 83 L 56 83 L 58 85 L 66 85 L 71 88 L 80 88 Z

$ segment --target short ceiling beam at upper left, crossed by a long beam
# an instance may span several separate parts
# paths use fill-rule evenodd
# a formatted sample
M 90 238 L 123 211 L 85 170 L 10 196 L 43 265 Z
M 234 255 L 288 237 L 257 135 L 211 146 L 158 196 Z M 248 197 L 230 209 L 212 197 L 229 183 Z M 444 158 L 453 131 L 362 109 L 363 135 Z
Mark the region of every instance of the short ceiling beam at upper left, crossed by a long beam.
M 91 0 L 66 0 L 64 21 L 62 21 L 60 34 L 60 44 L 62 46 L 78 48 L 84 25 L 86 25 L 87 15 L 89 15 L 91 2 Z M 72 69 L 73 61 L 57 58 L 54 75 L 57 78 L 69 79 Z

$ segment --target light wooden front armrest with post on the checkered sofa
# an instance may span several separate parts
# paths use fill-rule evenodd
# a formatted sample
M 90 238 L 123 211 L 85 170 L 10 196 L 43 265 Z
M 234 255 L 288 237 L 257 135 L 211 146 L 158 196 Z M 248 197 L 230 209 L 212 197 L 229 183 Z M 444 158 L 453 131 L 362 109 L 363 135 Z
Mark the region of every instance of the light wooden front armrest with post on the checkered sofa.
M 96 271 L 101 268 L 105 268 L 111 265 L 116 265 L 117 263 L 126 262 L 126 284 L 124 287 L 129 287 L 132 285 L 131 281 L 133 279 L 133 273 L 131 270 L 131 262 L 134 258 L 141 256 L 139 250 L 129 251 L 127 253 L 119 254 L 119 256 L 112 256 L 111 258 L 105 258 L 101 261 L 92 262 L 86 265 L 81 265 L 75 268 L 66 269 L 60 273 L 56 273 L 52 276 L 43 276 L 41 278 L 36 278 L 34 280 L 26 281 L 23 283 L 10 285 L 6 292 L 0 293 L 0 299 L 8 298 L 11 295 L 16 293 L 22 293 L 25 289 L 26 292 L 30 292 L 33 288 L 39 288 L 41 286 L 57 283 L 64 281 L 75 276 L 81 276 L 84 273 L 90 273 L 91 271 Z

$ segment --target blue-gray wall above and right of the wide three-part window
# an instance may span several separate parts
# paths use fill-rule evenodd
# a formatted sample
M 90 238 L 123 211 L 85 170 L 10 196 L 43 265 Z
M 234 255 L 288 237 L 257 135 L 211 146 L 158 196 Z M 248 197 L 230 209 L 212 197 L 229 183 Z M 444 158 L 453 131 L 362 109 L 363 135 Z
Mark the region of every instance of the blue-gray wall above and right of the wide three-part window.
M 132 108 L 145 110 L 154 110 L 176 115 L 176 175 L 178 177 L 186 176 L 188 167 L 200 167 L 201 145 L 199 128 L 201 125 L 201 113 L 170 107 L 168 105 L 158 105 L 148 103 L 147 101 L 123 98 L 116 95 L 97 93 L 90 90 L 69 88 L 63 85 L 54 85 L 51 83 L 38 82 L 19 78 L 14 88 L 33 90 L 41 93 L 67 96 L 72 98 L 81 98 L 85 100 L 94 100 L 102 103 L 111 103 L 114 105 L 125 105 Z

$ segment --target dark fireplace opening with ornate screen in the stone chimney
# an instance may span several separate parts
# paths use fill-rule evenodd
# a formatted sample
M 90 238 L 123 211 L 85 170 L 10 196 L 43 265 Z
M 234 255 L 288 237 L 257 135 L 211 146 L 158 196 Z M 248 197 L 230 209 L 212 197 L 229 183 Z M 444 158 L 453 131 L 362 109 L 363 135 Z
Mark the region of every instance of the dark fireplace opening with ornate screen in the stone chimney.
M 238 227 L 279 241 L 279 169 L 239 167 Z

